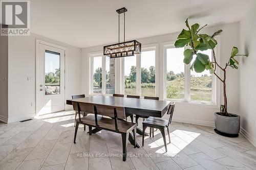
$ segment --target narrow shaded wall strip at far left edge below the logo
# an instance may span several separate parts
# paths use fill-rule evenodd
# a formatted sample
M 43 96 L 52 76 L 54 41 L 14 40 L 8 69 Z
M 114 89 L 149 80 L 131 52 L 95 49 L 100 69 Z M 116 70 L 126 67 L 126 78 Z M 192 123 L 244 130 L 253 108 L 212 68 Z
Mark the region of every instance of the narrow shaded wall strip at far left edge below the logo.
M 0 36 L 0 120 L 8 119 L 8 36 Z

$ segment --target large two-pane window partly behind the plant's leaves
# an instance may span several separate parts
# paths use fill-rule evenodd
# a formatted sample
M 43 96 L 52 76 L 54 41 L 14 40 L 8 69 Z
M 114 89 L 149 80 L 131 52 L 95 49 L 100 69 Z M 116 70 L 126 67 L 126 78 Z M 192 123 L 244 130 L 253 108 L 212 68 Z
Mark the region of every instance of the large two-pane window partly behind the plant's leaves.
M 184 48 L 164 47 L 165 99 L 214 103 L 214 79 L 209 70 L 201 73 L 190 70 L 190 66 L 183 63 L 183 52 Z M 211 60 L 211 50 L 200 53 L 207 54 Z M 191 63 L 194 60 L 195 56 Z

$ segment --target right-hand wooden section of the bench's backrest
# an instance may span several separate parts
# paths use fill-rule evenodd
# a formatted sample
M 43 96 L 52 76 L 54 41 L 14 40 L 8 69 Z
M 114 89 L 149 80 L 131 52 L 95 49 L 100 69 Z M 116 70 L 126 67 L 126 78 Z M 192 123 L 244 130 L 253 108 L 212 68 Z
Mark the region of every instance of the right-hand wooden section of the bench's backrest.
M 115 117 L 114 108 L 116 109 L 117 118 L 124 119 L 125 111 L 123 107 L 115 107 L 115 106 L 105 106 L 105 105 L 95 105 L 97 109 L 97 114 Z

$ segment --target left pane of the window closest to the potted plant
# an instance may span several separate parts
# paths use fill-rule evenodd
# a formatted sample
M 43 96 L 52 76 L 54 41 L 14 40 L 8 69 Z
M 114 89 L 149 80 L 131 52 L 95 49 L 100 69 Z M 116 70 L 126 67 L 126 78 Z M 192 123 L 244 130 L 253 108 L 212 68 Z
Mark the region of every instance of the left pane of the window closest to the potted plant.
M 166 98 L 184 99 L 184 48 L 166 49 Z

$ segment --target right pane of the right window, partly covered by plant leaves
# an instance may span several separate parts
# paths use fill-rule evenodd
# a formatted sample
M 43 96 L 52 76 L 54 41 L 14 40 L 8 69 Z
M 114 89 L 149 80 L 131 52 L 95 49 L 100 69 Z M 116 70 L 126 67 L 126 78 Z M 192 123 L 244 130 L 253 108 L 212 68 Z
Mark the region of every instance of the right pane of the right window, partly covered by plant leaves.
M 202 54 L 207 54 L 211 61 L 211 50 L 206 50 L 200 52 Z M 195 61 L 195 56 L 191 63 Z M 190 100 L 193 101 L 211 101 L 211 74 L 209 70 L 204 70 L 201 73 L 197 73 L 195 71 L 190 72 L 191 80 L 190 80 Z

